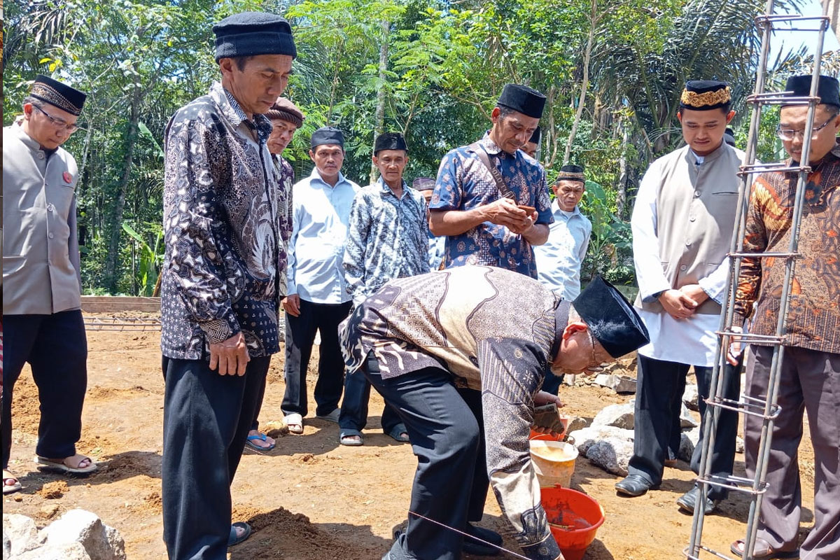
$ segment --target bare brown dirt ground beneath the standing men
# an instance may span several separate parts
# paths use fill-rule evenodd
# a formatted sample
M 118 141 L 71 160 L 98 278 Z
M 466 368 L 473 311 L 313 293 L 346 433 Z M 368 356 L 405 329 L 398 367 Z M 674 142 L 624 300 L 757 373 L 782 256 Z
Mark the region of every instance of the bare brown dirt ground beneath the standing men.
M 164 387 L 159 334 L 88 332 L 88 341 L 89 380 L 78 449 L 97 460 L 99 471 L 87 478 L 63 479 L 35 468 L 38 397 L 27 369 L 14 392 L 10 465 L 24 489 L 3 496 L 3 512 L 32 516 L 43 526 L 66 510 L 91 510 L 122 533 L 129 558 L 165 558 L 160 513 Z M 261 421 L 282 417 L 282 363 L 278 354 L 269 373 Z M 588 417 L 632 396 L 594 386 L 564 386 L 560 391 L 566 413 Z M 230 549 L 230 558 L 374 560 L 387 551 L 392 531 L 406 520 L 416 460 L 410 446 L 382 434 L 379 416 L 375 416 L 382 400 L 379 395 L 372 400 L 364 447 L 339 446 L 338 427 L 310 417 L 303 436 L 279 437 L 270 453 L 245 452 L 232 489 L 234 521 L 249 521 L 255 532 L 247 542 Z M 800 454 L 803 526 L 812 523 L 812 458 L 806 433 Z M 736 470 L 743 474 L 743 455 L 736 456 Z M 628 500 L 613 489 L 617 477 L 579 458 L 572 487 L 593 496 L 606 511 L 606 521 L 585 558 L 683 557 L 691 517 L 677 510 L 675 500 L 690 488 L 691 479 L 690 468 L 680 462 L 666 469 L 662 489 Z M 731 496 L 719 515 L 706 517 L 703 543 L 728 553 L 729 543 L 743 537 L 747 514 L 748 500 Z M 500 531 L 506 547 L 520 552 L 492 493 L 483 524 Z

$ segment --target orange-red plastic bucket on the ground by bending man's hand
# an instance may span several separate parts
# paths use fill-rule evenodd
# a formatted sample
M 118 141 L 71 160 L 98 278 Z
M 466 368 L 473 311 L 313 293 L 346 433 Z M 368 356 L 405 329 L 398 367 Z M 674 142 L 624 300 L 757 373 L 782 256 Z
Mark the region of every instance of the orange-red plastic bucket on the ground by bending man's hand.
M 540 489 L 549 529 L 566 560 L 581 560 L 604 522 L 601 505 L 583 492 L 554 486 Z

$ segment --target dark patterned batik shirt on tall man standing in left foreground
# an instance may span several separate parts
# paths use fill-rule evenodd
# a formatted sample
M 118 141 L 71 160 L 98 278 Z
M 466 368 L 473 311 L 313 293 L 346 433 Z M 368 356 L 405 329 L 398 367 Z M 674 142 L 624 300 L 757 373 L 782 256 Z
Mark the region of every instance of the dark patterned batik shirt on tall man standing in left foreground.
M 169 358 L 207 359 L 210 344 L 238 332 L 252 357 L 278 350 L 270 132 L 218 83 L 166 126 L 160 345 Z

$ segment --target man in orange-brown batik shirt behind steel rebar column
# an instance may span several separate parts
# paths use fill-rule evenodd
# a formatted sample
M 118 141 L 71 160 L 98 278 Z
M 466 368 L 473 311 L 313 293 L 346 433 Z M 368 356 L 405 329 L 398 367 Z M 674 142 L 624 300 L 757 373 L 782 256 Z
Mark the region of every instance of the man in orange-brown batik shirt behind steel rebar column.
M 795 97 L 811 95 L 811 76 L 791 76 L 785 90 Z M 785 317 L 785 352 L 780 364 L 759 530 L 753 558 L 802 557 L 809 560 L 840 558 L 840 84 L 820 76 L 805 186 L 805 207 L 799 227 L 798 256 L 793 290 Z M 783 105 L 779 138 L 790 158 L 785 166 L 799 165 L 808 119 L 806 105 Z M 798 172 L 758 175 L 750 193 L 743 249 L 746 252 L 788 251 Z M 779 321 L 781 287 L 786 259 L 743 259 L 738 278 L 735 318 L 750 317 L 753 334 L 774 335 Z M 753 306 L 754 304 L 754 306 Z M 740 344 L 733 343 L 728 359 L 738 359 Z M 747 360 L 746 394 L 764 398 L 769 390 L 769 369 L 774 348 L 751 343 Z M 801 548 L 802 495 L 797 453 L 808 415 L 814 448 L 814 526 Z M 759 463 L 762 420 L 744 416 L 744 456 L 748 476 Z M 732 543 L 743 556 L 743 541 Z

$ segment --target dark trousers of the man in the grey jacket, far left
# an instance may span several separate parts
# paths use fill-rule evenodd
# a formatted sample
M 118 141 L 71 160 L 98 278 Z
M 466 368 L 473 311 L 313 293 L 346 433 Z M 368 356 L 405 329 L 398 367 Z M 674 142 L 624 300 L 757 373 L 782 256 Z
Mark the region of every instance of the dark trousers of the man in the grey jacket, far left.
M 76 454 L 87 390 L 87 338 L 81 311 L 3 316 L 3 468 L 12 450 L 12 394 L 29 362 L 38 385 L 41 421 L 35 453 Z

